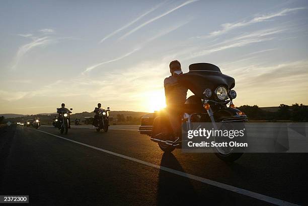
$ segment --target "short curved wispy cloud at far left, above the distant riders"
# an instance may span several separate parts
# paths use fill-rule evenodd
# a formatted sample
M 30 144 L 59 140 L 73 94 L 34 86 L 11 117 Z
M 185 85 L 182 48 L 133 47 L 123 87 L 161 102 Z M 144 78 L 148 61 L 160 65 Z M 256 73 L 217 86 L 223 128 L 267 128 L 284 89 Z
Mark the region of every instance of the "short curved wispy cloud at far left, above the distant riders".
M 51 42 L 52 40 L 48 38 L 48 36 L 45 36 L 42 38 L 34 39 L 32 42 L 21 46 L 17 51 L 16 57 L 15 57 L 15 63 L 12 66 L 12 68 L 15 68 L 18 65 L 20 59 L 30 50 L 38 46 L 45 46 L 47 44 L 50 44 Z

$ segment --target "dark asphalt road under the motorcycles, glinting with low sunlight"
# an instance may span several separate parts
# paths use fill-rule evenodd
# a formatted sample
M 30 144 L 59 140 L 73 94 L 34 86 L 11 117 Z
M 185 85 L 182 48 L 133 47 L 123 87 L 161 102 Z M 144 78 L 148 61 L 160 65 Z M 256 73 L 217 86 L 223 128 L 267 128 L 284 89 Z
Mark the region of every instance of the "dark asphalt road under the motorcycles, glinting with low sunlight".
M 306 153 L 226 164 L 210 153 L 164 154 L 133 128 L 65 135 L 11 125 L 0 131 L 0 195 L 29 195 L 30 205 L 308 205 Z

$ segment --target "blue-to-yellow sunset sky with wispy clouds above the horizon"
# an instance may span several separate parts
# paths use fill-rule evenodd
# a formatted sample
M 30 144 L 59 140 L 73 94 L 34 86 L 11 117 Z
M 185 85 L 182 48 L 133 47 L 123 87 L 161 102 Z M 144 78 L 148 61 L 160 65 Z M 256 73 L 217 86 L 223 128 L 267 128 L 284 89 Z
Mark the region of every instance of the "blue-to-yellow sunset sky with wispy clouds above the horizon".
M 164 79 L 209 62 L 235 105 L 308 104 L 306 1 L 1 1 L 0 113 L 165 106 Z M 189 93 L 191 95 L 191 93 Z

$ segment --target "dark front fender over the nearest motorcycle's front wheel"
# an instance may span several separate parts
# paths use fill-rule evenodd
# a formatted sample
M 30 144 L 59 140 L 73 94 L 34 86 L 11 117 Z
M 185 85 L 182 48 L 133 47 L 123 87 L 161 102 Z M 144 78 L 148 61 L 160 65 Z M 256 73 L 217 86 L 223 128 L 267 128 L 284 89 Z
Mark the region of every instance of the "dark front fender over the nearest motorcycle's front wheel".
M 214 112 L 214 119 L 216 122 L 221 121 L 247 121 L 246 114 L 239 109 L 225 107 Z

